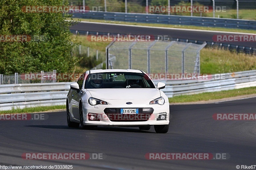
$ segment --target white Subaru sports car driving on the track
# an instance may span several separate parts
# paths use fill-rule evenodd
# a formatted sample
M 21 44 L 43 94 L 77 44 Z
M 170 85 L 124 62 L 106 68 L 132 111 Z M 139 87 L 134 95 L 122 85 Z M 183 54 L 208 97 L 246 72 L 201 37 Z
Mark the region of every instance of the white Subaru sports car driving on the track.
M 141 70 L 88 70 L 67 95 L 68 127 L 139 127 L 156 133 L 169 129 L 169 101 L 164 83 L 154 85 Z

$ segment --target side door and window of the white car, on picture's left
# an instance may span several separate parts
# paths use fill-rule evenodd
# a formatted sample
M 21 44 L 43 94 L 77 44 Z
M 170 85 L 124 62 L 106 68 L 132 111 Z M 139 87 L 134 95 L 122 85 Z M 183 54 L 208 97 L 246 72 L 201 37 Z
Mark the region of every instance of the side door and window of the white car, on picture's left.
M 77 80 L 77 84 L 79 85 L 79 90 L 72 90 L 72 92 L 71 92 L 72 113 L 73 113 L 74 117 L 78 120 L 80 120 L 79 100 L 84 93 L 84 91 L 82 90 L 83 82 L 84 82 L 84 75 L 85 74 L 82 74 L 80 76 L 80 78 Z

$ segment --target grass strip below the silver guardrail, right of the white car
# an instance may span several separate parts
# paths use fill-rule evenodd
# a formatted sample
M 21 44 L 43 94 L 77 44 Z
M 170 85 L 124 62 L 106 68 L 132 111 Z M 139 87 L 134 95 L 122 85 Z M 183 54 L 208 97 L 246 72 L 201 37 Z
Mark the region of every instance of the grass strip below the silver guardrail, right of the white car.
M 241 88 L 235 90 L 227 90 L 221 92 L 206 92 L 192 95 L 180 95 L 169 98 L 170 103 L 183 103 L 183 102 L 195 102 L 195 101 L 210 101 L 215 99 L 223 99 L 228 97 L 236 97 L 247 94 L 256 95 L 256 87 Z

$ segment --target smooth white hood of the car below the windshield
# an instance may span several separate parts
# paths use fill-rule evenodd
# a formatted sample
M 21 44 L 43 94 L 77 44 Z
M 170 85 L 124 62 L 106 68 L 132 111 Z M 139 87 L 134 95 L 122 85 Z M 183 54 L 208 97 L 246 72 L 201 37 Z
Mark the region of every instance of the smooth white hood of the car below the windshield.
M 87 89 L 92 97 L 100 100 L 156 99 L 160 97 L 158 89 Z

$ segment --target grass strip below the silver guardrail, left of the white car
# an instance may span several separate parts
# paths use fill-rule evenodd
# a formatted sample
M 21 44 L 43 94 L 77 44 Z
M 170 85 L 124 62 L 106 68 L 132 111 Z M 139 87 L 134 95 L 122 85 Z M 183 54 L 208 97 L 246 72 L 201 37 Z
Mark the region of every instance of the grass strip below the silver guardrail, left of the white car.
M 25 107 L 23 109 L 14 107 L 12 108 L 12 110 L 0 111 L 0 114 L 38 113 L 38 112 L 45 112 L 45 111 L 54 111 L 57 109 L 66 109 L 66 105 Z

